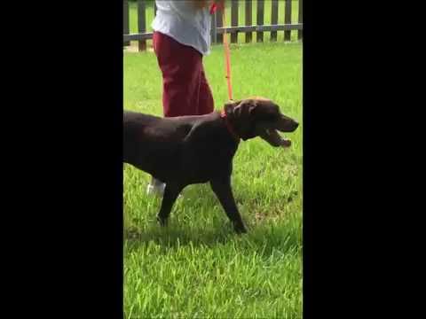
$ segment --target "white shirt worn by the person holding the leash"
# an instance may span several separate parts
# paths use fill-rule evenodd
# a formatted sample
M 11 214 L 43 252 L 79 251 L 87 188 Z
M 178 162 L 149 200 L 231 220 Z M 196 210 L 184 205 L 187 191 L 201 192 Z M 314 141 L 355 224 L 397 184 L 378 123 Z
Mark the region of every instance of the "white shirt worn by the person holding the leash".
M 209 8 L 196 9 L 192 1 L 155 0 L 157 13 L 152 27 L 154 31 L 169 35 L 178 43 L 189 45 L 202 55 L 210 53 Z

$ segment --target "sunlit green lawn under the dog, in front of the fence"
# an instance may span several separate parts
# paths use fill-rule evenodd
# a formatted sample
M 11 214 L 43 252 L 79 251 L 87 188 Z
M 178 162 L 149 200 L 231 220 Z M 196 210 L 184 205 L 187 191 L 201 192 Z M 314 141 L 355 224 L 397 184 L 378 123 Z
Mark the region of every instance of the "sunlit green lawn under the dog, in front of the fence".
M 259 95 L 302 121 L 302 44 L 233 45 L 234 98 Z M 227 99 L 222 47 L 204 58 L 216 108 Z M 162 114 L 162 77 L 151 52 L 124 54 L 124 107 Z M 124 166 L 126 318 L 302 317 L 302 128 L 290 149 L 241 143 L 233 191 L 248 234 L 237 236 L 209 185 L 191 185 L 170 225 L 155 222 L 149 175 Z

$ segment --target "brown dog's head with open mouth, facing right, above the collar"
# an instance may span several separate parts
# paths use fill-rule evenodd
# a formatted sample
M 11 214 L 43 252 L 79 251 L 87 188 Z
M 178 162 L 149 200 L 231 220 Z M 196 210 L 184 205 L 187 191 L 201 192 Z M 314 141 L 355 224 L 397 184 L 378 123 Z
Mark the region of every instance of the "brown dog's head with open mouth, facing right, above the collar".
M 295 120 L 280 113 L 280 107 L 264 97 L 252 97 L 225 104 L 237 134 L 245 141 L 260 136 L 272 146 L 289 146 L 290 141 L 281 138 L 280 132 L 294 132 L 299 126 Z

